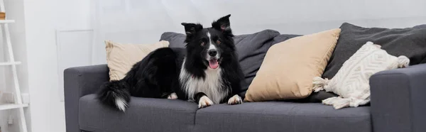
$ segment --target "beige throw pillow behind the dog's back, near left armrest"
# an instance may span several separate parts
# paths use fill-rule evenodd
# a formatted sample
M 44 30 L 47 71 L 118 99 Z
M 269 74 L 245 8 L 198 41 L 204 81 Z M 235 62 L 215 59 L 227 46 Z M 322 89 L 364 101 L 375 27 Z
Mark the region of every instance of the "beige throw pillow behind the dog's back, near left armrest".
M 126 76 L 136 62 L 158 48 L 168 47 L 168 41 L 162 40 L 153 44 L 122 44 L 105 40 L 109 80 L 119 80 Z

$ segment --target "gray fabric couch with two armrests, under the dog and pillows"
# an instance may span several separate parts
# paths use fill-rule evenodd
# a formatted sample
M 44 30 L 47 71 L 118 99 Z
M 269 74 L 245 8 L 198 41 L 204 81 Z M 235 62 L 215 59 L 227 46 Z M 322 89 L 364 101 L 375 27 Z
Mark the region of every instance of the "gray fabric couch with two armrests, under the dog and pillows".
M 109 81 L 107 65 L 70 67 L 64 75 L 67 132 L 426 131 L 426 64 L 376 73 L 370 78 L 371 105 L 339 110 L 297 101 L 216 104 L 198 109 L 188 101 L 132 97 L 123 113 L 95 99 L 99 86 Z

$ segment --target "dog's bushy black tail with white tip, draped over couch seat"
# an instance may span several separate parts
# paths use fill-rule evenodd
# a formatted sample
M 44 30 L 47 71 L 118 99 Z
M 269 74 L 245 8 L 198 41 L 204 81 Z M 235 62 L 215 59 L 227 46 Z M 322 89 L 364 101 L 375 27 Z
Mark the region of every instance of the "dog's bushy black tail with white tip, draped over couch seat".
M 130 101 L 129 84 L 124 80 L 107 82 L 101 86 L 98 99 L 103 104 L 112 106 L 120 111 L 126 111 Z

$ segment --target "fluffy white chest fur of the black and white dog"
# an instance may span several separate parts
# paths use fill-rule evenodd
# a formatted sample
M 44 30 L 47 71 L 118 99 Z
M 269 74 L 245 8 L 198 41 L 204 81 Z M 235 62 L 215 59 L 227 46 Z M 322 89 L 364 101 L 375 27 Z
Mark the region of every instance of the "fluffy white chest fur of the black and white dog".
M 221 68 L 204 70 L 205 77 L 193 77 L 184 67 L 180 70 L 180 84 L 183 90 L 187 93 L 188 98 L 193 101 L 195 94 L 203 92 L 213 101 L 214 104 L 219 104 L 226 97 L 226 89 L 222 89 L 222 70 Z

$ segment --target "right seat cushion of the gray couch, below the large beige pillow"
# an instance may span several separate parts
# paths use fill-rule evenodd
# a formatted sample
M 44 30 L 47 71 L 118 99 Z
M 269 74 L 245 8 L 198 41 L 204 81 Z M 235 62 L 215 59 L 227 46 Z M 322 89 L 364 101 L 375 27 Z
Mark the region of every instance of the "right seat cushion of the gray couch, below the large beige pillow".
M 197 111 L 195 131 L 371 131 L 370 107 L 335 110 L 280 101 L 219 104 Z

